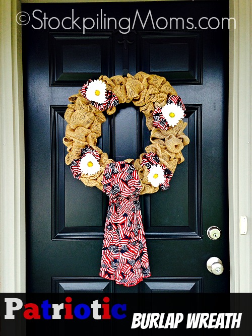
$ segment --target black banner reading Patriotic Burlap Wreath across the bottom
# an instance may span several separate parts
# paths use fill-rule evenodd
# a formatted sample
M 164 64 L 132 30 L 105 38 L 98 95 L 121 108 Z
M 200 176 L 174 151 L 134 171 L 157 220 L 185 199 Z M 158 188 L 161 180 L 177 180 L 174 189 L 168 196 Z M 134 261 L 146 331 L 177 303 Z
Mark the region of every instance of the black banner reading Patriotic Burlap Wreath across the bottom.
M 252 294 L 2 293 L 1 336 L 250 335 Z

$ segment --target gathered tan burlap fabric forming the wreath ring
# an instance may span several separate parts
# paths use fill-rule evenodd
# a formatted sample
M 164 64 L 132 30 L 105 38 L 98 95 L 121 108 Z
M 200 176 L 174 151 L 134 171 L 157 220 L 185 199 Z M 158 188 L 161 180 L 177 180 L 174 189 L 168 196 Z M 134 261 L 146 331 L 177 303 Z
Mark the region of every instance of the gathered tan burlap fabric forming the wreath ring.
M 179 120 L 176 126 L 162 130 L 153 127 L 152 116 L 156 107 L 163 107 L 166 104 L 167 97 L 177 95 L 174 88 L 164 77 L 148 75 L 144 72 L 139 72 L 135 76 L 128 74 L 127 77 L 100 76 L 99 79 L 106 83 L 107 90 L 112 90 L 118 97 L 119 104 L 132 101 L 145 114 L 146 125 L 151 130 L 150 145 L 145 148 L 145 151 L 146 153 L 156 153 L 160 163 L 174 173 L 177 164 L 184 161 L 182 149 L 190 142 L 183 133 L 187 123 Z M 73 160 L 80 158 L 81 149 L 86 145 L 92 146 L 101 155 L 99 161 L 101 169 L 94 175 L 82 174 L 80 180 L 87 186 L 96 186 L 102 190 L 101 181 L 104 169 L 107 163 L 113 162 L 106 153 L 96 146 L 97 138 L 101 136 L 101 124 L 106 120 L 106 117 L 103 112 L 92 106 L 90 101 L 81 95 L 80 90 L 78 94 L 72 95 L 69 101 L 71 104 L 68 105 L 65 112 L 68 124 L 63 139 L 68 150 L 66 164 L 70 165 Z M 115 111 L 116 107 L 113 106 L 107 109 L 106 113 L 113 114 Z M 141 194 L 153 193 L 158 191 L 159 187 L 152 186 L 148 181 L 148 169 L 146 166 L 141 166 L 143 155 L 144 153 L 140 155 L 139 159 L 125 161 L 133 163 L 139 174 L 143 186 Z

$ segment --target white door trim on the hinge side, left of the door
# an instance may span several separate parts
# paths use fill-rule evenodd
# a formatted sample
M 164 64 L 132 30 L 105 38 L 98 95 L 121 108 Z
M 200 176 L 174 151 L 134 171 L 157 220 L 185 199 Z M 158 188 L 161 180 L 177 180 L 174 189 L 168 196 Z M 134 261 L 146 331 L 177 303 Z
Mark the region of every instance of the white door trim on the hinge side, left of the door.
M 25 292 L 25 162 L 21 4 L 0 0 L 0 283 L 1 292 Z

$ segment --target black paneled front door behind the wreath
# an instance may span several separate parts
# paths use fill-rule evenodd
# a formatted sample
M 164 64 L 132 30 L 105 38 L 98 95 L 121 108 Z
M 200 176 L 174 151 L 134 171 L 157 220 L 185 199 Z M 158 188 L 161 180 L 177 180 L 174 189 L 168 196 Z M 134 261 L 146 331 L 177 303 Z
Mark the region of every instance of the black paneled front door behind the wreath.
M 229 292 L 228 29 L 221 27 L 228 2 L 22 4 L 22 10 L 31 18 L 22 33 L 27 292 Z M 170 188 L 140 196 L 151 277 L 126 288 L 99 277 L 108 199 L 73 178 L 62 139 L 68 98 L 88 79 L 139 71 L 165 77 L 182 98 L 190 144 Z M 144 117 L 130 103 L 107 116 L 98 141 L 115 161 L 136 159 L 149 144 Z M 218 239 L 207 235 L 211 226 L 220 229 Z M 210 257 L 221 259 L 222 274 L 209 272 Z

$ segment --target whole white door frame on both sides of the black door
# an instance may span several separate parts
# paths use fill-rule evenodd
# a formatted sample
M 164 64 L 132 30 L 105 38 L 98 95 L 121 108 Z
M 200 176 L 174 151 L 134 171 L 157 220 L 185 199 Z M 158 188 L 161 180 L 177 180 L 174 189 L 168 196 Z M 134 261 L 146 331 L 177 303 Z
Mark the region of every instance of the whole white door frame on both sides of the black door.
M 179 1 L 179 0 L 177 0 Z M 0 0 L 0 292 L 25 292 L 25 145 L 21 26 L 16 14 L 22 3 L 49 0 Z M 75 3 L 74 0 L 56 1 Z M 78 2 L 90 2 L 78 1 Z M 92 0 L 91 0 L 92 2 Z M 102 2 L 102 1 L 101 1 Z M 122 2 L 122 1 L 121 1 Z M 229 244 L 230 291 L 252 292 L 251 53 L 252 5 L 229 0 L 236 29 L 229 31 Z M 247 99 L 244 99 L 247 97 Z M 239 233 L 239 218 L 248 219 L 248 232 Z

